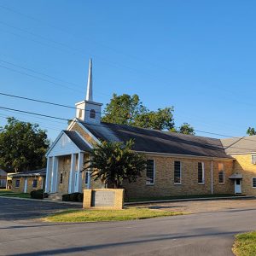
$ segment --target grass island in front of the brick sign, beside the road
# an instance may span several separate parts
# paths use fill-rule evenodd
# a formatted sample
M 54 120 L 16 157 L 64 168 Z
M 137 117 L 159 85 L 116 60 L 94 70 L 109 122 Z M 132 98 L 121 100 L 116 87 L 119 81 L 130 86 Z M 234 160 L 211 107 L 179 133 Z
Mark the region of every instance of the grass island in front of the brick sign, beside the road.
M 96 222 L 156 218 L 183 214 L 186 213 L 128 207 L 123 210 L 67 210 L 50 215 L 44 218 L 44 220 L 50 222 Z

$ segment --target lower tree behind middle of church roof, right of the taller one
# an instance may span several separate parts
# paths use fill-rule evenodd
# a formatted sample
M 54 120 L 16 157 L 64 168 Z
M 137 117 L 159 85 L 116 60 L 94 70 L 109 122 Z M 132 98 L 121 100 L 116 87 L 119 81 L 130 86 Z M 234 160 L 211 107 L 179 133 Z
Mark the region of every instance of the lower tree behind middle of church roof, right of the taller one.
M 156 130 L 170 130 L 174 126 L 173 108 L 159 108 L 157 111 L 150 111 L 138 114 L 133 125 Z

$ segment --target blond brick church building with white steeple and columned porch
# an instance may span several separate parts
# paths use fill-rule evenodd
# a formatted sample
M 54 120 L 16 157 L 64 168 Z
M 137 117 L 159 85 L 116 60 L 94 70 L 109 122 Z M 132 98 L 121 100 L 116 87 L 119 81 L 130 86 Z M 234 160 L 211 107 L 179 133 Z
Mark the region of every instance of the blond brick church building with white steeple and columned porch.
M 67 194 L 103 184 L 81 172 L 96 143 L 126 142 L 144 154 L 147 166 L 135 183 L 124 183 L 130 198 L 172 195 L 256 195 L 256 136 L 216 139 L 117 125 L 101 121 L 102 103 L 93 99 L 92 62 L 87 93 L 75 118 L 49 148 L 45 192 Z

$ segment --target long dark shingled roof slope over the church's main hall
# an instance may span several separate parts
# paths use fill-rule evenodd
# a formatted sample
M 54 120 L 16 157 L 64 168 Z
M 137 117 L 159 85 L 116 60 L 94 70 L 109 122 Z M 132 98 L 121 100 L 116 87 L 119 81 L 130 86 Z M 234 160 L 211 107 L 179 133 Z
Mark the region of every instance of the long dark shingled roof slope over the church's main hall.
M 130 125 L 109 123 L 92 125 L 84 122 L 81 122 L 81 125 L 99 140 L 126 142 L 133 139 L 135 142 L 133 149 L 136 151 L 230 158 L 224 152 L 221 141 L 215 138 L 156 131 Z

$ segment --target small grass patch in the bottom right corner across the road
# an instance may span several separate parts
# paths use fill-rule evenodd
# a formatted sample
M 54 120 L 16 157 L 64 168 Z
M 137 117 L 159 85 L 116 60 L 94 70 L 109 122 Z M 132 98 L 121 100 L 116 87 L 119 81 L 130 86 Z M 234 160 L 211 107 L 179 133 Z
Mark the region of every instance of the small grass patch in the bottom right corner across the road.
M 233 247 L 236 256 L 255 256 L 256 255 L 256 232 L 249 232 L 236 235 Z

